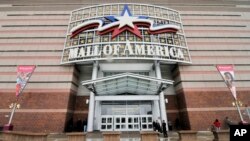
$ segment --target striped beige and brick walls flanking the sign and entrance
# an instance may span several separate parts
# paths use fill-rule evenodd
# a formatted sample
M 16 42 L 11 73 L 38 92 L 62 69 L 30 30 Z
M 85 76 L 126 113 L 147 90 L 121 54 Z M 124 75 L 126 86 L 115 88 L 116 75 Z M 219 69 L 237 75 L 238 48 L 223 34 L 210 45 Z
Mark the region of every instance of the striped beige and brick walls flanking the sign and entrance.
M 244 1 L 192 1 L 143 3 L 181 13 L 193 64 L 178 64 L 178 73 L 173 73 L 177 95 L 167 96 L 167 111 L 169 120 L 174 120 L 179 112 L 182 128 L 196 130 L 206 129 L 215 118 L 222 120 L 225 115 L 239 120 L 215 64 L 235 65 L 239 99 L 250 105 L 250 10 Z M 70 91 L 78 87 L 75 67 L 60 62 L 70 11 L 92 4 L 70 2 L 73 5 L 66 0 L 42 4 L 32 0 L 0 1 L 0 126 L 7 123 L 8 105 L 15 100 L 17 65 L 38 67 L 13 119 L 15 130 L 60 132 L 71 116 L 87 117 L 87 97 L 76 97 Z

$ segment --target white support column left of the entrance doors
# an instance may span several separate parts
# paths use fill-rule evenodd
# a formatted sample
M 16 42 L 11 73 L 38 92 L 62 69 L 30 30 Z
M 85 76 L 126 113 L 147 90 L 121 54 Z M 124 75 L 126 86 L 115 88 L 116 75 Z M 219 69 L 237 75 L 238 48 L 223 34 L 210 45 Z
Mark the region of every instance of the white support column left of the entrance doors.
M 92 80 L 95 80 L 97 78 L 98 65 L 99 65 L 98 61 L 93 62 Z M 95 111 L 95 94 L 93 92 L 90 92 L 90 95 L 89 95 L 88 125 L 87 125 L 87 131 L 88 132 L 93 131 L 94 111 Z

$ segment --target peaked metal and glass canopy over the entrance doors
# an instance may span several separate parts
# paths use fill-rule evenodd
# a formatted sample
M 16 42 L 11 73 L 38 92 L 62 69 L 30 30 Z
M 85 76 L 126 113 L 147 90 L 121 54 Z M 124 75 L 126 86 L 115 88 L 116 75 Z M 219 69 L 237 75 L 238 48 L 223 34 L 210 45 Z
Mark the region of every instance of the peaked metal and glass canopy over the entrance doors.
M 82 85 L 96 95 L 156 95 L 172 84 L 171 80 L 134 73 L 122 73 L 96 80 L 82 81 Z

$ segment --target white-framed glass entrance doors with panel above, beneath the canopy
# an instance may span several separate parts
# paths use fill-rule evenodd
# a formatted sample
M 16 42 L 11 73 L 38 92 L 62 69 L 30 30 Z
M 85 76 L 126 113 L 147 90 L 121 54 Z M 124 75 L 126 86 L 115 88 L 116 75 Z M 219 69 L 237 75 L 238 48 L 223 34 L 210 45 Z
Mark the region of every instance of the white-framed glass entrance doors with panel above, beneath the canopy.
M 151 101 L 101 102 L 101 131 L 153 130 Z

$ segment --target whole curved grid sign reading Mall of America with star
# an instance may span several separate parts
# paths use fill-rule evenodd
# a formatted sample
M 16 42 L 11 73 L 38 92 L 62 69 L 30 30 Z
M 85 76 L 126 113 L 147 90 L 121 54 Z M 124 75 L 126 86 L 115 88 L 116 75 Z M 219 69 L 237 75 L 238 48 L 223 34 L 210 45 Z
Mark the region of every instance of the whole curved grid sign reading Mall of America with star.
M 191 63 L 179 13 L 146 4 L 73 11 L 62 64 L 108 59 Z

